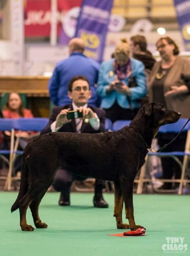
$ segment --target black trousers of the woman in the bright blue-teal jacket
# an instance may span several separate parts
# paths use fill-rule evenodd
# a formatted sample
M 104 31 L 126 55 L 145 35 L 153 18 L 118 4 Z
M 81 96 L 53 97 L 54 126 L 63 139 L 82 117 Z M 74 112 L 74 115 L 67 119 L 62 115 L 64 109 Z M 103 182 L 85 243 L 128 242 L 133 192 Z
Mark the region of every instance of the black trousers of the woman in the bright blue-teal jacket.
M 118 105 L 117 101 L 115 101 L 111 108 L 104 108 L 104 110 L 106 111 L 106 118 L 109 118 L 113 123 L 117 120 L 133 120 L 139 111 L 138 108 L 122 108 Z

